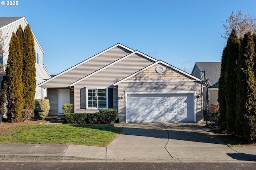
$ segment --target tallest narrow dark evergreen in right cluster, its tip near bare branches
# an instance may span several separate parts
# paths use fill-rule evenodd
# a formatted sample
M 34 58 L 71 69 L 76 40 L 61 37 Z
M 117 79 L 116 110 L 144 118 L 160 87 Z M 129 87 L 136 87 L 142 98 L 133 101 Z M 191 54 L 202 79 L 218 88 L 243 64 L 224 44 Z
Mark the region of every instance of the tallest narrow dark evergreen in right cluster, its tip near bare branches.
M 227 41 L 225 100 L 226 100 L 226 121 L 228 133 L 234 133 L 236 121 L 236 67 L 239 58 L 240 40 L 236 30 L 232 30 Z

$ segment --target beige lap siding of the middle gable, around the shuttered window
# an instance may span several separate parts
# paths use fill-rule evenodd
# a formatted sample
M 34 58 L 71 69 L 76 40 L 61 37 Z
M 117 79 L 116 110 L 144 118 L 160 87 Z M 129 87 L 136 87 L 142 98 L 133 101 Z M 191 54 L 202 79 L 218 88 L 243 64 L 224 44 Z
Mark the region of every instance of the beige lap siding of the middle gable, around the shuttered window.
M 152 64 L 151 60 L 146 59 L 138 54 L 134 54 L 97 74 L 79 82 L 75 85 L 75 112 L 84 112 L 80 109 L 80 89 L 84 87 L 113 87 L 112 84 L 130 76 L 134 72 Z M 119 95 L 120 96 L 120 95 Z M 114 90 L 114 106 L 117 107 L 117 92 Z M 116 101 L 115 101 L 116 100 Z

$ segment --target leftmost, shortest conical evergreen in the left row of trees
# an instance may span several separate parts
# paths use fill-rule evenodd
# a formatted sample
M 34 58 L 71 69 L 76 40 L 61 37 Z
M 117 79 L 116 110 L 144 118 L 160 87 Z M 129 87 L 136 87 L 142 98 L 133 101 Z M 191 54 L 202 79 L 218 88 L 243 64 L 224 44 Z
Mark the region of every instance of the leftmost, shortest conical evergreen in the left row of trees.
M 22 121 L 22 109 L 24 105 L 22 95 L 22 66 L 20 43 L 17 35 L 13 32 L 6 68 L 7 116 L 11 122 Z

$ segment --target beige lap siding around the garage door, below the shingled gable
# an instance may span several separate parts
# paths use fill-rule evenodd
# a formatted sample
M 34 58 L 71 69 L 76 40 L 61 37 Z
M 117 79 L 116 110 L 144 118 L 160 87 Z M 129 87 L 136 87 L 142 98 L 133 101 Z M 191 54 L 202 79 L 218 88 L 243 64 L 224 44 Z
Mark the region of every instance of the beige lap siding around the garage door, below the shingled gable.
M 118 85 L 119 96 L 125 96 L 125 91 L 189 91 L 196 90 L 196 95 L 202 93 L 198 82 L 123 82 Z M 125 98 L 119 100 L 119 117 L 125 117 Z M 202 119 L 202 101 L 196 99 L 197 121 Z

